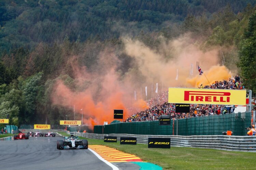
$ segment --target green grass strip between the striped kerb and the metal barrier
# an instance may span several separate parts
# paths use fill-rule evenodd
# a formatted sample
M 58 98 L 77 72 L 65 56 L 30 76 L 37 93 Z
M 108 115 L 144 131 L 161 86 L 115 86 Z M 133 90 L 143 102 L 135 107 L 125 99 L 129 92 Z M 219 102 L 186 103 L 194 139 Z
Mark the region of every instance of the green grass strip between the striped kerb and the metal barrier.
M 60 133 L 60 132 L 58 132 Z M 69 136 L 65 132 L 63 136 Z M 82 137 L 81 137 L 82 138 Z M 87 139 L 89 145 L 104 145 L 119 151 L 134 154 L 144 162 L 161 166 L 163 169 L 255 169 L 256 153 L 234 152 L 215 149 L 171 147 L 171 149 L 147 148 L 145 144 L 120 145 L 106 143 L 100 139 Z

